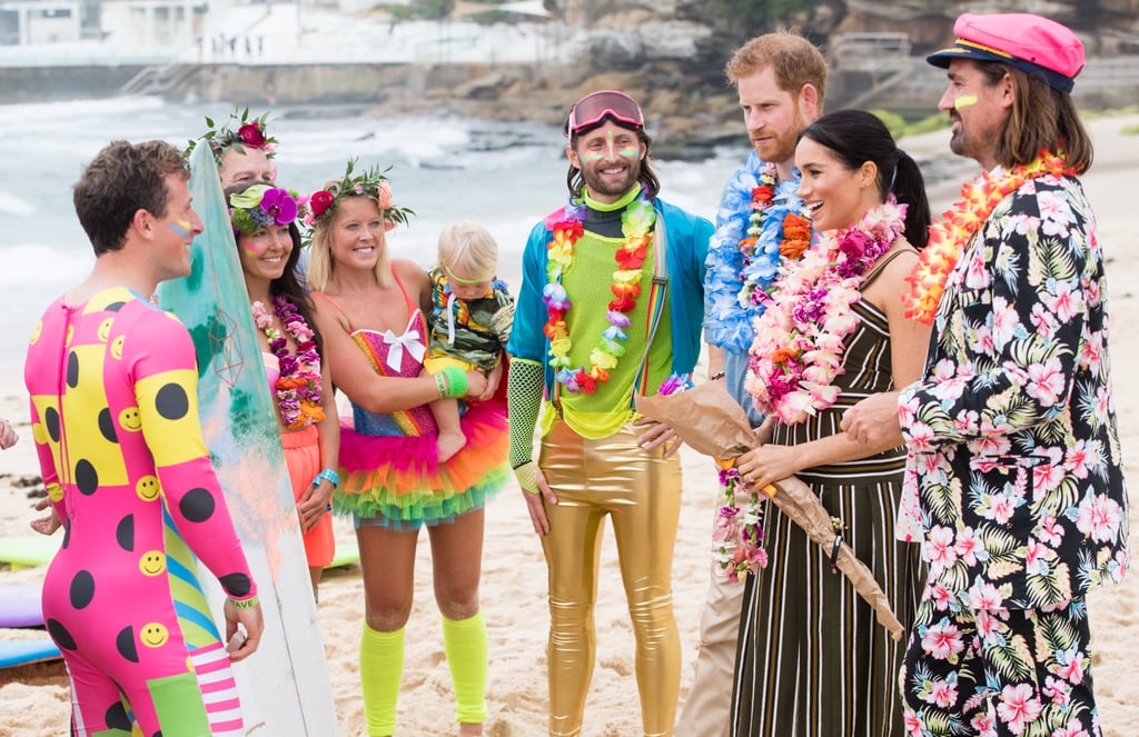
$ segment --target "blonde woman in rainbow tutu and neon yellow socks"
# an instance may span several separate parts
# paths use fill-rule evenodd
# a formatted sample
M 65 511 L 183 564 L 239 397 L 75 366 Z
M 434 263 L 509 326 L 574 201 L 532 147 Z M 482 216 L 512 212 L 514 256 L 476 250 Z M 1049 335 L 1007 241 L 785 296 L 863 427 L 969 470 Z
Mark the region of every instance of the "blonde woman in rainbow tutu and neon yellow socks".
M 379 169 L 328 182 L 309 199 L 309 284 L 333 380 L 352 403 L 342 427 L 337 511 L 351 513 L 363 570 L 360 685 L 368 734 L 395 734 L 404 625 L 415 591 L 416 543 L 427 526 L 443 650 L 454 683 L 458 734 L 481 735 L 486 719 L 486 625 L 478 603 L 483 506 L 505 484 L 506 416 L 474 402 L 461 418 L 467 443 L 440 460 L 428 404 L 476 399 L 481 371 L 424 372 L 432 284 L 411 261 L 390 260 L 386 231 L 409 211 L 392 205 Z M 435 732 L 440 734 L 440 732 Z

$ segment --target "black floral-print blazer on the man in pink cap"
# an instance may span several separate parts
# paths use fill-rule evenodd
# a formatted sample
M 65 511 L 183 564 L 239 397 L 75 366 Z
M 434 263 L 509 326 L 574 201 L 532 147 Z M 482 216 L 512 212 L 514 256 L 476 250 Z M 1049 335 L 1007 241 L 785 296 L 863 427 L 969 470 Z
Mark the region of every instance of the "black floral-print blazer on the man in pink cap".
M 1026 182 L 965 248 L 925 378 L 899 402 L 935 596 L 1033 608 L 1123 578 L 1105 303 L 1095 215 L 1075 178 Z

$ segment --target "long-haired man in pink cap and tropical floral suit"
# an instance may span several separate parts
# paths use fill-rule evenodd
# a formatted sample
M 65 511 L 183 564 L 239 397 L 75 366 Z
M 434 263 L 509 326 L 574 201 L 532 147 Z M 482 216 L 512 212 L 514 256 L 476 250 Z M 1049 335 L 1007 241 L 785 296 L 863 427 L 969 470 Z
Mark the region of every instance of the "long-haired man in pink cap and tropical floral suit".
M 1076 179 L 1083 46 L 1034 15 L 962 15 L 939 107 L 988 171 L 935 224 L 908 300 L 923 380 L 843 427 L 910 449 L 929 579 L 899 683 L 911 735 L 1100 735 L 1087 591 L 1128 566 L 1106 282 Z M 935 311 L 935 312 L 934 312 Z M 900 433 L 900 434 L 899 434 Z

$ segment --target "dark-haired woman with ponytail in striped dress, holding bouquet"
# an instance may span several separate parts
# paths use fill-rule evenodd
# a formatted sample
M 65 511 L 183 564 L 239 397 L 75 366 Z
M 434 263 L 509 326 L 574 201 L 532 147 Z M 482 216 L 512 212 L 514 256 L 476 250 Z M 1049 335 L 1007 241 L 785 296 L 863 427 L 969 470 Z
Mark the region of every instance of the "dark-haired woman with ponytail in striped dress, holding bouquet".
M 906 451 L 855 443 L 838 425 L 847 407 L 921 372 L 929 328 L 904 318 L 901 296 L 927 239 L 924 182 L 859 110 L 808 126 L 795 165 L 817 236 L 780 267 L 756 320 L 747 388 L 768 419 L 737 469 L 757 488 L 793 474 L 806 483 L 908 627 L 923 572 L 898 519 Z M 773 505 L 763 515 L 768 565 L 747 576 L 732 735 L 901 737 L 904 642 L 831 571 L 830 550 Z

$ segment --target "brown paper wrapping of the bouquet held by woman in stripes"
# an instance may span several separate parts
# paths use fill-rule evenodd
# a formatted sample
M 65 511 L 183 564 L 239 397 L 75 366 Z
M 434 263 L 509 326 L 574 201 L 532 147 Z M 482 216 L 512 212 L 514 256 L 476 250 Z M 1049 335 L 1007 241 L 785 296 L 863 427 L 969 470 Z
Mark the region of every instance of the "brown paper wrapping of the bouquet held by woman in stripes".
M 718 461 L 734 460 L 752 448 L 752 426 L 747 415 L 728 394 L 723 382 L 708 382 L 667 396 L 638 396 L 637 411 L 675 431 L 686 444 Z M 829 556 L 838 534 L 827 511 L 811 488 L 795 476 L 773 484 L 771 501 L 787 517 L 822 546 Z M 770 494 L 769 490 L 768 491 Z M 836 566 L 850 579 L 859 595 L 874 608 L 878 623 L 901 640 L 904 631 L 894 616 L 890 600 L 870 570 L 854 557 L 845 542 L 839 543 Z

